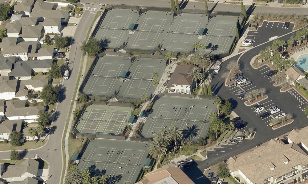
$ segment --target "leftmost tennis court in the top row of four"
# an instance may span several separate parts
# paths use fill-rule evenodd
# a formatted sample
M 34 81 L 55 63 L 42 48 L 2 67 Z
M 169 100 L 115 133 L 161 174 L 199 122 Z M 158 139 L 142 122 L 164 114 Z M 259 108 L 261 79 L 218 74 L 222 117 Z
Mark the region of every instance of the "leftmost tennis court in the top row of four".
M 99 40 L 107 38 L 111 47 L 121 45 L 128 39 L 127 28 L 131 23 L 136 23 L 136 19 L 132 10 L 110 10 L 101 22 L 95 37 Z

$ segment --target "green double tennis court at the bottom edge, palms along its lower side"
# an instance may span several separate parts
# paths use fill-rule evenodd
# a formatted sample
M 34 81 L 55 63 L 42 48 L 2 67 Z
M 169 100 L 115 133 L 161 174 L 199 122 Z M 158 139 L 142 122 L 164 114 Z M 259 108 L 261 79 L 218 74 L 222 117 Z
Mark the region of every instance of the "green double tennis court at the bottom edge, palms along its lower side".
M 95 139 L 90 141 L 79 169 L 104 174 L 107 183 L 135 183 L 148 155 L 145 143 Z

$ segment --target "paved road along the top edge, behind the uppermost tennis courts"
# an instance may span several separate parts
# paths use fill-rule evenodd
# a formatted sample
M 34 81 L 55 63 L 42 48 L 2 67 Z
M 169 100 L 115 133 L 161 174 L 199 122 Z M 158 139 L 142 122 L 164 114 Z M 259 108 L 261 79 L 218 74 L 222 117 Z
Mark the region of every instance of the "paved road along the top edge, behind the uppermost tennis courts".
M 222 0 L 221 0 L 222 1 Z M 139 6 L 157 6 L 157 7 L 170 7 L 170 1 L 169 0 L 156 0 L 155 3 L 153 3 L 152 0 L 105 0 L 105 1 L 97 1 L 97 0 L 81 0 L 82 3 L 91 3 L 95 5 L 101 4 L 127 4 L 127 5 L 139 5 Z M 179 1 L 180 2 L 180 1 Z M 183 0 L 184 2 L 184 0 Z M 187 1 L 188 2 L 188 1 Z M 184 3 L 185 4 L 185 3 Z M 189 1 L 185 8 L 187 9 L 200 9 L 204 10 L 204 3 L 203 2 L 192 2 Z M 215 3 L 209 3 L 208 7 L 209 10 L 211 10 L 215 6 L 215 11 L 233 11 L 233 12 L 241 12 L 241 6 L 240 5 L 234 5 L 234 4 L 224 4 L 224 3 L 218 3 L 217 5 Z M 182 6 L 183 7 L 183 6 Z M 249 9 L 249 6 L 246 6 L 246 10 L 248 13 L 258 13 L 258 12 L 268 12 L 268 13 L 294 13 L 298 15 L 306 15 L 307 9 L 306 8 L 285 8 L 285 7 L 268 7 L 268 6 L 256 6 L 254 10 Z

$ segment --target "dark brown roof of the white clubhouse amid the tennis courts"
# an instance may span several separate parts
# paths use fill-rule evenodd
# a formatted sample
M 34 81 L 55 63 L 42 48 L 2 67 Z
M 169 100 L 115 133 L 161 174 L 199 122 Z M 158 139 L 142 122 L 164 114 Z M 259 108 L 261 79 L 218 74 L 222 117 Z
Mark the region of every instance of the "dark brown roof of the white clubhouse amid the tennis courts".
M 188 77 L 188 73 L 192 68 L 199 67 L 195 65 L 179 65 L 176 66 L 170 81 L 168 82 L 167 88 L 174 87 L 174 85 L 186 85 L 190 86 L 193 82 L 193 78 Z

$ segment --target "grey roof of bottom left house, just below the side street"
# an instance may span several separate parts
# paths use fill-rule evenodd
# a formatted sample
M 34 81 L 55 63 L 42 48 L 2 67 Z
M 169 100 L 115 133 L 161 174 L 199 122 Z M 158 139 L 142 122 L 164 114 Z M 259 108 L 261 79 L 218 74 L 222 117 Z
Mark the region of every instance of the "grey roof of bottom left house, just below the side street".
M 34 159 L 28 158 L 20 165 L 9 165 L 7 167 L 7 171 L 3 173 L 2 178 L 19 177 L 26 172 L 37 176 L 38 169 L 39 162 Z

